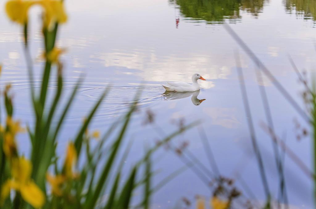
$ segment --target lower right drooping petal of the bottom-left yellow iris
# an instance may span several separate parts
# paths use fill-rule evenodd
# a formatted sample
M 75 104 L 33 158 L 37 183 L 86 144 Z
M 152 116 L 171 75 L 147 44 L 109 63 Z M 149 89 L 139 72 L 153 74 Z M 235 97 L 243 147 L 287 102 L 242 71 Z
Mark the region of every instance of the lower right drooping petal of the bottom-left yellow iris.
M 45 203 L 45 195 L 34 182 L 21 185 L 22 198 L 35 208 L 40 208 Z

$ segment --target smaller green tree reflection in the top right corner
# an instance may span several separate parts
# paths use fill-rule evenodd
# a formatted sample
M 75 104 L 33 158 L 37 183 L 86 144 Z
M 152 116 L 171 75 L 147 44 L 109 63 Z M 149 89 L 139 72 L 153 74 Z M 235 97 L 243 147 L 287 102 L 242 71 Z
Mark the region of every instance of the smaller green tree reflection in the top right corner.
M 304 19 L 316 18 L 315 0 L 285 0 L 285 8 L 290 14 L 294 11 L 296 15 Z

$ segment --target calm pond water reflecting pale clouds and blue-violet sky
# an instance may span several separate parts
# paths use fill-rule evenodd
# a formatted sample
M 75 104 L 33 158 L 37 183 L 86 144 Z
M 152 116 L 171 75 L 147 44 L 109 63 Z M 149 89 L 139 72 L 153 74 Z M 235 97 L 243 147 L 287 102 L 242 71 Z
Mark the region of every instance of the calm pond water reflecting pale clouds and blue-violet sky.
M 15 115 L 26 123 L 32 120 L 32 110 L 22 36 L 20 28 L 5 17 L 4 3 L 0 0 L 1 86 L 9 82 L 13 84 Z M 110 93 L 92 126 L 101 132 L 128 110 L 136 93 L 141 90 L 139 111 L 133 117 L 126 137 L 126 142 L 133 140 L 126 169 L 141 157 L 144 147 L 175 131 L 179 121 L 201 120 L 199 128 L 192 128 L 175 138 L 173 145 L 188 142 L 190 153 L 211 170 L 200 136 L 202 127 L 220 173 L 234 178 L 237 188 L 243 191 L 241 200 L 263 202 L 264 189 L 236 72 L 234 51 L 238 50 L 269 188 L 274 198 L 278 196 L 278 175 L 271 139 L 259 126 L 265 121 L 265 115 L 255 73 L 257 68 L 222 23 L 233 28 L 304 107 L 301 98 L 303 87 L 288 56 L 294 59 L 300 70 L 306 70 L 307 75 L 316 69 L 313 20 L 316 4 L 313 1 L 66 0 L 65 3 L 70 18 L 61 27 L 58 41 L 59 46 L 67 48 L 62 57 L 67 78 L 65 89 L 70 93 L 82 75 L 85 80 L 59 137 L 59 153 L 64 153 L 67 141 L 106 87 L 111 86 Z M 42 43 L 37 9 L 31 11 L 30 37 L 35 70 L 40 75 L 43 63 L 38 59 Z M 165 81 L 190 82 L 193 73 L 200 73 L 207 80 L 199 81 L 200 92 L 165 94 L 161 84 Z M 51 89 L 55 85 L 52 80 Z M 301 127 L 308 128 L 308 125 L 266 77 L 259 85 L 263 85 L 267 92 L 276 134 L 285 139 L 287 146 L 312 169 L 312 144 L 308 137 L 297 140 L 299 130 L 295 128 L 295 120 Z M 197 100 L 201 99 L 205 100 L 199 104 Z M 143 121 L 149 110 L 155 114 L 155 124 L 145 126 Z M 27 154 L 26 134 L 19 140 L 21 151 Z M 162 149 L 154 157 L 154 185 L 184 165 L 181 158 L 170 150 Z M 284 162 L 289 205 L 312 208 L 311 179 L 287 155 Z M 210 197 L 212 193 L 208 185 L 193 170 L 185 170 L 155 193 L 152 208 L 181 208 L 183 197 L 192 202 L 196 195 Z M 252 192 L 246 192 L 245 184 Z M 239 207 L 242 208 L 236 206 Z

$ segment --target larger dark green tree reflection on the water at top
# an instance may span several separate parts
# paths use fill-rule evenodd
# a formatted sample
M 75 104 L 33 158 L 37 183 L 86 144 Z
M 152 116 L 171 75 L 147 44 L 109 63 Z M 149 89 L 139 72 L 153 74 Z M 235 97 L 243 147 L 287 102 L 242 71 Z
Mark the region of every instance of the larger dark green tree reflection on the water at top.
M 208 23 L 223 23 L 225 19 L 240 21 L 240 10 L 258 16 L 268 0 L 169 0 L 179 6 L 187 18 L 204 20 Z

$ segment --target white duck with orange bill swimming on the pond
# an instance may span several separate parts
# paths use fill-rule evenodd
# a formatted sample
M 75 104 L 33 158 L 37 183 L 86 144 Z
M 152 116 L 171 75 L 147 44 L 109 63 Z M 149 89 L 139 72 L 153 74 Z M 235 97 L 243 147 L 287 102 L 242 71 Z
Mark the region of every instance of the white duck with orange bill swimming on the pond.
M 195 92 L 200 89 L 200 85 L 197 80 L 204 80 L 200 74 L 195 73 L 192 75 L 192 84 L 185 82 L 167 82 L 167 84 L 161 85 L 169 92 Z

